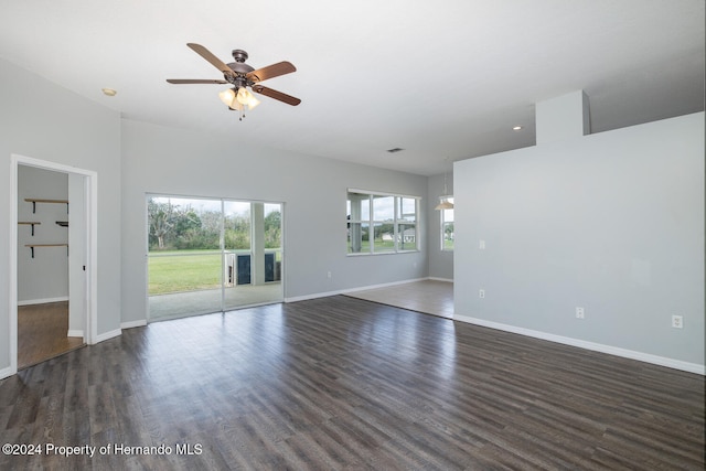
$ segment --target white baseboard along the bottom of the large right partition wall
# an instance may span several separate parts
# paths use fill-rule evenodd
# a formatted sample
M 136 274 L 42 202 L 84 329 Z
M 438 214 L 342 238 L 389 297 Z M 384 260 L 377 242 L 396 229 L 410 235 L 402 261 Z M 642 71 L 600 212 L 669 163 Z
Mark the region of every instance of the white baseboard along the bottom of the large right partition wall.
M 453 315 L 454 321 L 467 322 L 484 328 L 501 330 L 504 332 L 517 333 L 520 335 L 527 335 L 535 339 L 547 340 L 549 342 L 561 343 L 570 346 L 578 346 L 580 349 L 592 350 L 595 352 L 607 353 L 609 355 L 622 356 L 624 358 L 638 360 L 640 362 L 652 363 L 660 366 L 666 366 L 674 370 L 681 370 L 688 373 L 696 373 L 699 375 L 706 375 L 706 366 L 697 363 L 683 362 L 681 360 L 667 358 L 665 356 L 652 355 L 650 353 L 635 352 L 633 350 L 620 349 L 618 346 L 605 345 L 602 343 L 588 342 L 585 340 L 573 339 L 569 336 L 555 335 L 547 332 L 535 331 L 531 329 L 518 328 L 515 325 L 502 324 L 499 322 L 486 321 L 483 319 L 475 319 L 468 315 Z

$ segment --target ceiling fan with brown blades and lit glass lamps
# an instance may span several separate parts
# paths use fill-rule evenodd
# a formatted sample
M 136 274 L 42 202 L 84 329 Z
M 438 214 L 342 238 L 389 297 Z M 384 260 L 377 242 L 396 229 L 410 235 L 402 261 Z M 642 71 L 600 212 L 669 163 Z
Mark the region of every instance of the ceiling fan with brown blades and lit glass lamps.
M 277 92 L 272 88 L 260 85 L 260 82 L 268 78 L 278 77 L 280 75 L 289 74 L 297 68 L 289 62 L 282 61 L 277 64 L 268 65 L 267 67 L 255 69 L 247 65 L 247 52 L 236 49 L 233 50 L 233 58 L 235 62 L 225 64 L 218 57 L 216 57 L 211 51 L 202 46 L 201 44 L 189 43 L 186 44 L 196 54 L 208 61 L 213 66 L 223 73 L 223 81 L 218 79 L 200 79 L 200 78 L 168 78 L 170 84 L 231 84 L 232 88 L 225 89 L 218 94 L 221 100 L 233 110 L 240 111 L 240 120 L 245 117 L 245 108 L 248 110 L 259 105 L 259 100 L 253 96 L 247 89 L 250 87 L 256 94 L 265 95 L 270 98 L 275 98 L 287 105 L 297 106 L 301 103 L 299 98 Z

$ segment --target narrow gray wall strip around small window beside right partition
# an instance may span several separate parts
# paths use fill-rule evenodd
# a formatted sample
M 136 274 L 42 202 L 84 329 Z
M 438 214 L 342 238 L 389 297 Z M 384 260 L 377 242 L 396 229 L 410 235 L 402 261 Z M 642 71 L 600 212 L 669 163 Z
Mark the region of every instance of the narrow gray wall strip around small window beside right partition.
M 446 175 L 446 191 L 443 188 L 443 174 L 429 176 L 427 180 L 426 211 L 428 214 L 428 244 L 429 277 L 443 280 L 453 280 L 453 251 L 442 251 L 441 247 L 441 212 L 434 208 L 439 204 L 439 196 L 453 194 L 453 172 L 449 169 Z M 454 211 L 456 214 L 456 211 Z

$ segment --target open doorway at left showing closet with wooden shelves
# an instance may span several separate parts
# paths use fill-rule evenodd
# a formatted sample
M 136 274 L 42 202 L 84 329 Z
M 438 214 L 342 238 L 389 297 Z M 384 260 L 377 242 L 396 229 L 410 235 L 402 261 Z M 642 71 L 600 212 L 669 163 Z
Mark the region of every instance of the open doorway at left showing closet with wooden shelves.
M 14 374 L 94 343 L 97 189 L 93 171 L 24 156 L 11 156 L 11 175 L 10 368 Z

